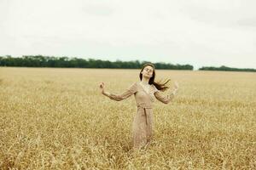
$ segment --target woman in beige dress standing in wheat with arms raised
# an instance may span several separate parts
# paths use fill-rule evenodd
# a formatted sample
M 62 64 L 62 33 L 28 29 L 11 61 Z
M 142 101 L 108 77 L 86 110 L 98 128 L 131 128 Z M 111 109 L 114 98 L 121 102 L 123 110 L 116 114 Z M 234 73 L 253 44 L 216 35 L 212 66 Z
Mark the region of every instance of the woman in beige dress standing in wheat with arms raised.
M 175 94 L 177 94 L 178 85 L 175 82 L 174 90 L 171 94 L 166 96 L 162 95 L 160 91 L 165 91 L 168 87 L 166 83 L 154 82 L 155 71 L 154 65 L 147 63 L 143 65 L 139 74 L 140 82 L 134 82 L 123 94 L 110 94 L 104 89 L 104 82 L 100 84 L 102 94 L 108 96 L 109 99 L 120 101 L 126 99 L 134 94 L 137 103 L 137 114 L 132 123 L 132 141 L 133 148 L 139 149 L 152 139 L 152 126 L 153 126 L 153 109 L 152 103 L 154 97 L 164 104 L 172 101 Z

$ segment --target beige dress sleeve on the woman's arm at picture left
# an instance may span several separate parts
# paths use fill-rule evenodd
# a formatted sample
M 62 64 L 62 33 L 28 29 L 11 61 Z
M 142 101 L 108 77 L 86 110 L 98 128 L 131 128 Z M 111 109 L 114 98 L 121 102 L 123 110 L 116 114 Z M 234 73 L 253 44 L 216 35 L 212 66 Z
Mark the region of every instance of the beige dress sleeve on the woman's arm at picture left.
M 137 83 L 134 82 L 131 84 L 129 88 L 125 89 L 125 92 L 123 94 L 109 94 L 109 99 L 113 99 L 116 101 L 120 101 L 122 99 L 126 99 L 130 97 L 132 94 L 135 94 L 137 92 Z

